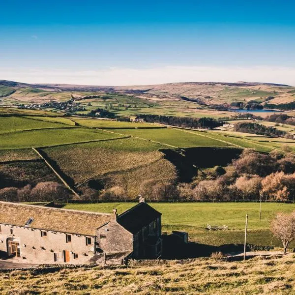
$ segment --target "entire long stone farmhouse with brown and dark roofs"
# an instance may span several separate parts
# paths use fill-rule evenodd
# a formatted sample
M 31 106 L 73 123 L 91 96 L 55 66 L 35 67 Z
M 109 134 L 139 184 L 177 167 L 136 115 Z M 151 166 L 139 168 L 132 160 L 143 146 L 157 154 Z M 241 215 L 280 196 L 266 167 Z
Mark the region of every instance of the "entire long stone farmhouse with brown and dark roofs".
M 36 264 L 157 258 L 161 213 L 141 202 L 117 214 L 0 202 L 0 257 Z

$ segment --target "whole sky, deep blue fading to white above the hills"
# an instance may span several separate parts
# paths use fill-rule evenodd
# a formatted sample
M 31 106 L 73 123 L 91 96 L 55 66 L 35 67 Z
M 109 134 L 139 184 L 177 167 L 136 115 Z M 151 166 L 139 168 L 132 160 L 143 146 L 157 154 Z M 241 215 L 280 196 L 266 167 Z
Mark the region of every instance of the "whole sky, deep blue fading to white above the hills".
M 294 0 L 0 0 L 0 80 L 295 86 Z

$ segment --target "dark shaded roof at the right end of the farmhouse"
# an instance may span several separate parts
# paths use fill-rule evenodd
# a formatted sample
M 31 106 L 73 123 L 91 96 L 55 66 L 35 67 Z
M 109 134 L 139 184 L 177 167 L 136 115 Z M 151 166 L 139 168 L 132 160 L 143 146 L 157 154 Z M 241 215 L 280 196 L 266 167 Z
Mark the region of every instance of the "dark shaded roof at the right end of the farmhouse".
M 118 215 L 117 222 L 131 234 L 136 234 L 161 215 L 147 203 L 141 202 Z

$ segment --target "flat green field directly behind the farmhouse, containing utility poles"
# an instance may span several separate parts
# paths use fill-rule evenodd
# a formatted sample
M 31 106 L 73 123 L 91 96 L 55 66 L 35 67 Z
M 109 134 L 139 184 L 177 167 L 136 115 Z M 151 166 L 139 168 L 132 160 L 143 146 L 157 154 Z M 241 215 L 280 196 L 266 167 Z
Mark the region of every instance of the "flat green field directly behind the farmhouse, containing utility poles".
M 135 203 L 68 204 L 65 208 L 97 212 L 118 213 L 134 206 Z M 270 220 L 277 212 L 292 212 L 293 204 L 262 204 L 262 221 L 259 222 L 259 203 L 149 203 L 162 213 L 163 231 L 187 231 L 193 241 L 219 246 L 242 244 L 246 213 L 248 221 L 248 243 L 281 246 L 269 232 Z M 206 225 L 227 225 L 229 231 L 208 231 Z M 295 247 L 295 243 L 292 245 Z

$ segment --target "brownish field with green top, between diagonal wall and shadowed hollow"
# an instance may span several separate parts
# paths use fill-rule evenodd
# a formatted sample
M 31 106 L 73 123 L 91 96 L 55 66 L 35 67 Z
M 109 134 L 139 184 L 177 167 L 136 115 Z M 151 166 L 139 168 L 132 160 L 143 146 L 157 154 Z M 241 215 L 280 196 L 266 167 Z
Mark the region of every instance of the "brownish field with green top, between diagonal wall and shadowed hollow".
M 175 167 L 158 151 L 163 147 L 127 138 L 43 150 L 77 186 L 90 179 L 103 181 L 107 187 L 124 182 L 128 195 L 137 195 L 144 181 L 176 178 Z

